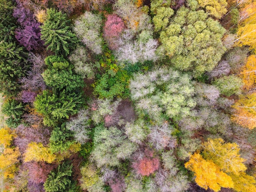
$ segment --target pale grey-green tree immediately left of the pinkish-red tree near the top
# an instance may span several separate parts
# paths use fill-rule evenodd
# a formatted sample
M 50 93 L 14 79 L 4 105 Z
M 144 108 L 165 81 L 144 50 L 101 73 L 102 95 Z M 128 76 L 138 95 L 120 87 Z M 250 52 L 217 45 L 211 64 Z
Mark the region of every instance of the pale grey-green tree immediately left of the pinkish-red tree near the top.
M 100 36 L 100 28 L 100 16 L 88 11 L 75 20 L 74 31 L 76 36 L 95 54 L 101 54 L 102 52 L 103 42 Z

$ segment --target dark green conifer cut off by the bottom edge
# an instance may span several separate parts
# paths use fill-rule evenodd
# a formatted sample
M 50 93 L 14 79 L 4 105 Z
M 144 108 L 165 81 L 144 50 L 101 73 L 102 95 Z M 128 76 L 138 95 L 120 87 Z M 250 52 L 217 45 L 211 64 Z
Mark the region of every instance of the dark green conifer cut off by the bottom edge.
M 58 169 L 48 175 L 44 189 L 46 192 L 76 192 L 76 184 L 71 180 L 72 164 L 62 163 Z

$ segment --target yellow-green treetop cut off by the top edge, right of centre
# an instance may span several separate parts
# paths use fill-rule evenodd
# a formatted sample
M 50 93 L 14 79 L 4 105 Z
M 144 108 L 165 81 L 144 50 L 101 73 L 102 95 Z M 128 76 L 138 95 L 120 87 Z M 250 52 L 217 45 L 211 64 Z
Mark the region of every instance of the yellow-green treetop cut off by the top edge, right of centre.
M 227 13 L 227 0 L 198 0 L 198 5 L 205 8 L 209 15 L 218 19 Z

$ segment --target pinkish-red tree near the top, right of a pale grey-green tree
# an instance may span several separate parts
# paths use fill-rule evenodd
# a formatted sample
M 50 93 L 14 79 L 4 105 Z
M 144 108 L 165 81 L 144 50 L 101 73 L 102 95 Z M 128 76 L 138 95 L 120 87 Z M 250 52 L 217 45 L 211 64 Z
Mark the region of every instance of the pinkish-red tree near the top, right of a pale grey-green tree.
M 115 41 L 119 38 L 124 27 L 124 22 L 120 17 L 117 15 L 108 16 L 104 27 L 104 38 L 108 42 L 110 49 L 114 50 L 118 47 Z

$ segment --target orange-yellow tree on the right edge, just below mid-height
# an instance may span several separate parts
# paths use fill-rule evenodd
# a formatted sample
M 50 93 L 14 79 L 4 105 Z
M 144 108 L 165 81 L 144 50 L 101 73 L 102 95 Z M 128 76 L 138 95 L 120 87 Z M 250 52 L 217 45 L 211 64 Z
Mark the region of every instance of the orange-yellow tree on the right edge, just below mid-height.
M 256 93 L 240 96 L 240 99 L 232 106 L 236 111 L 231 119 L 249 129 L 256 127 Z

